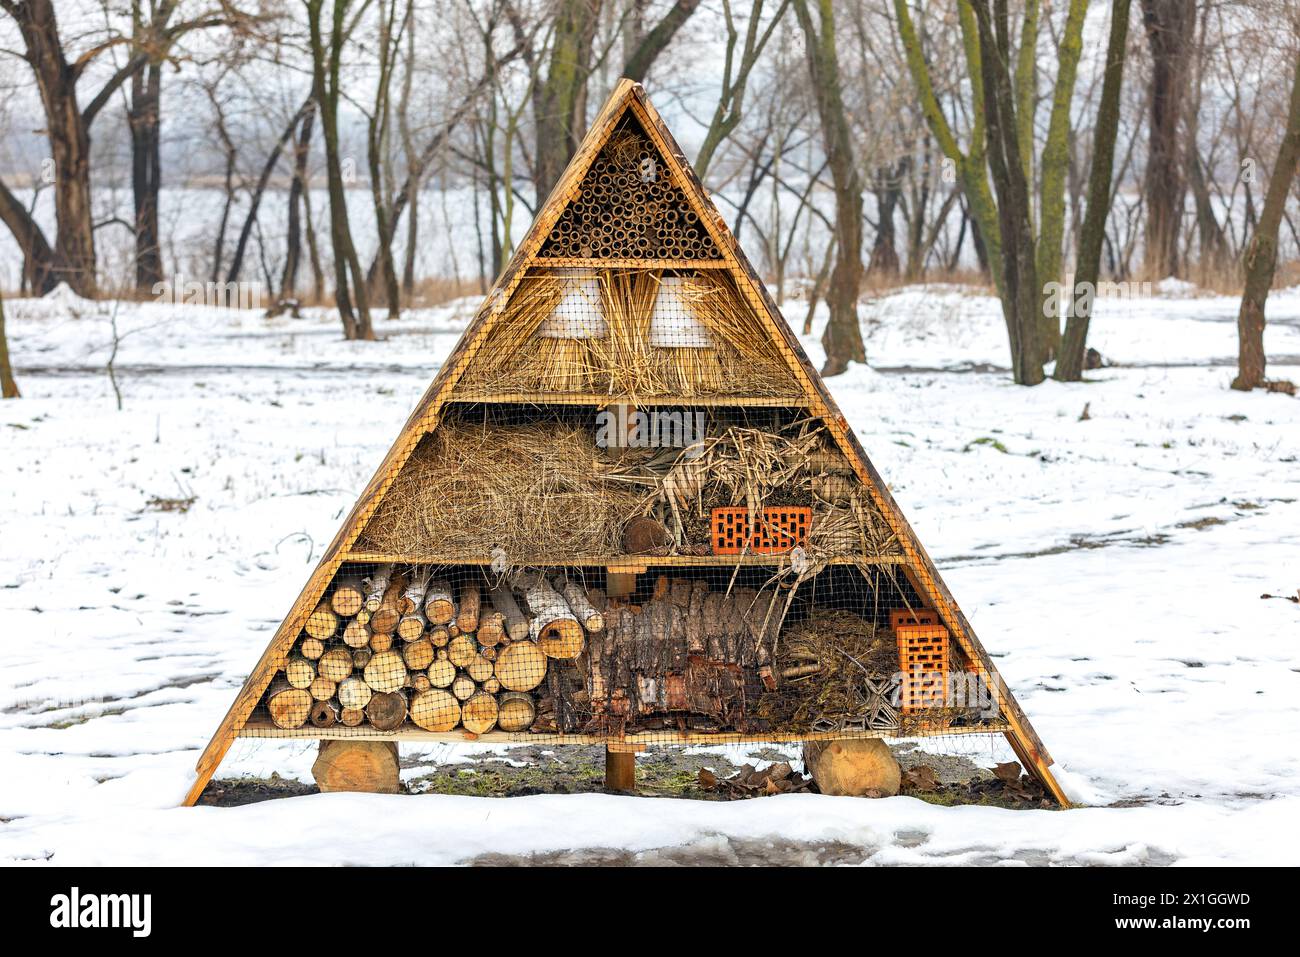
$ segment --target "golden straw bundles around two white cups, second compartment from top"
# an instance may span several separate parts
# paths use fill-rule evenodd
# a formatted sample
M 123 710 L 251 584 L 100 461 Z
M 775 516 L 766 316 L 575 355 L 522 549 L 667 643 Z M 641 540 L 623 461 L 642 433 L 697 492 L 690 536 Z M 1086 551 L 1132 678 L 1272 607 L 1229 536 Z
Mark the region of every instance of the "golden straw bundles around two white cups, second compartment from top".
M 599 270 L 608 334 L 549 338 L 538 326 L 564 296 L 562 276 L 534 269 L 519 282 L 462 380 L 486 391 L 567 391 L 618 397 L 796 397 L 789 368 L 728 277 L 690 276 L 684 299 L 710 347 L 650 345 L 662 269 Z M 593 317 L 595 309 L 593 307 Z

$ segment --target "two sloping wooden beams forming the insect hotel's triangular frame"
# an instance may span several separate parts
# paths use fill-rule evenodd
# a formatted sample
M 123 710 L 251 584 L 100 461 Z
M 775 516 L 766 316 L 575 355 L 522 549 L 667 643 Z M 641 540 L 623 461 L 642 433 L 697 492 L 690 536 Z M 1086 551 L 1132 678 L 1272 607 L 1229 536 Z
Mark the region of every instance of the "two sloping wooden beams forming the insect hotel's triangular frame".
M 281 623 L 266 650 L 248 675 L 234 703 L 199 758 L 195 768 L 196 779 L 185 798 L 186 805 L 195 804 L 203 793 L 208 780 L 216 772 L 221 759 L 230 749 L 234 739 L 244 727 L 263 693 L 282 666 L 307 616 L 316 607 L 316 603 L 325 593 L 339 566 L 344 560 L 356 560 L 356 557 L 351 555 L 350 550 L 365 528 L 365 523 L 378 507 L 384 494 L 417 445 L 420 437 L 437 425 L 442 406 L 452 399 L 452 391 L 460 376 L 465 372 L 480 343 L 491 332 L 494 319 L 508 302 L 526 267 L 533 264 L 538 250 L 554 228 L 564 205 L 569 202 L 577 183 L 581 182 L 592 161 L 603 147 L 610 133 L 615 129 L 621 116 L 629 111 L 658 147 L 668 166 L 668 174 L 686 194 L 686 199 L 699 216 L 701 224 L 708 230 L 714 243 L 722 251 L 725 263 L 724 268 L 732 272 L 741 294 L 781 346 L 781 352 L 789 363 L 790 372 L 803 389 L 810 413 L 823 420 L 827 429 L 835 437 L 836 443 L 849 458 L 859 480 L 870 489 L 876 505 L 897 534 L 904 549 L 904 571 L 916 589 L 916 593 L 939 612 L 953 638 L 992 689 L 1001 714 L 1006 720 L 1006 739 L 1017 757 L 1026 770 L 1035 775 L 1061 805 L 1067 804 L 1063 791 L 1052 774 L 1050 767 L 1053 762 L 1046 748 L 1015 702 L 1014 696 L 1006 687 L 988 653 L 976 638 L 970 622 L 966 620 L 966 616 L 958 609 L 957 602 L 944 584 L 930 555 L 889 494 L 884 478 L 871 464 L 866 450 L 849 428 L 848 420 L 840 412 L 835 399 L 831 398 L 826 382 L 809 361 L 802 346 L 781 317 L 776 303 L 768 295 L 767 289 L 745 254 L 736 243 L 722 215 L 688 164 L 681 148 L 664 126 L 659 113 L 650 104 L 645 90 L 640 83 L 623 79 L 601 108 L 599 114 L 592 124 L 590 130 L 578 146 L 560 181 L 538 211 L 524 241 L 519 244 L 510 263 L 493 283 L 482 306 L 462 335 L 460 342 L 456 343 L 447 360 L 439 368 L 433 384 L 411 412 L 402 433 L 390 447 L 387 455 L 385 455 L 382 464 L 365 486 L 356 505 L 352 506 L 352 510 L 308 579 L 303 592 L 290 609 L 289 615 Z M 546 263 L 556 264 L 554 260 L 546 260 Z M 559 264 L 563 264 L 563 261 Z M 634 265 L 644 267 L 646 263 L 638 261 Z

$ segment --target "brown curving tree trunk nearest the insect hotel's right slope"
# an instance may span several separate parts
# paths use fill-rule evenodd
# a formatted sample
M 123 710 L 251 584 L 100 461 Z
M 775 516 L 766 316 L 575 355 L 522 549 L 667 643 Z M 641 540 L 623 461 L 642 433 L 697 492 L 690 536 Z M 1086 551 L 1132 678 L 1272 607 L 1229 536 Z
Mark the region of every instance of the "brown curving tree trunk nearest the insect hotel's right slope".
M 803 30 L 809 74 L 816 96 L 822 139 L 835 185 L 835 267 L 827 304 L 831 317 L 822 335 L 826 347 L 823 376 L 838 376 L 850 361 L 867 360 L 858 324 L 858 294 L 862 287 L 862 185 L 853 159 L 853 137 L 840 90 L 840 60 L 835 49 L 832 0 L 818 0 L 818 27 L 807 0 L 796 0 L 794 12 Z

